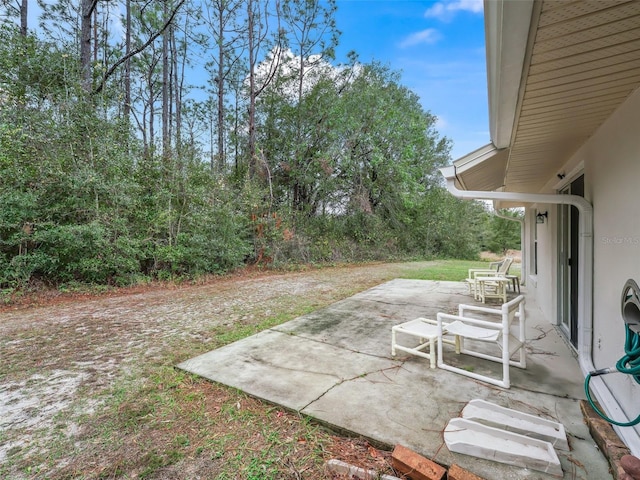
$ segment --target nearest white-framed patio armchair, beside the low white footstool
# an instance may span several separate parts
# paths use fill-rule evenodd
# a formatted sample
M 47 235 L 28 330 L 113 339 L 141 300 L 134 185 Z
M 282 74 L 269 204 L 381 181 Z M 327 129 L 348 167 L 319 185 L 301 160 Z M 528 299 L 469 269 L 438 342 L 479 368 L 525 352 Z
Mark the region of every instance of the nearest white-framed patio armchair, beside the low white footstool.
M 477 380 L 497 385 L 503 388 L 511 386 L 509 378 L 509 367 L 511 365 L 519 368 L 526 368 L 525 352 L 525 313 L 524 296 L 520 295 L 508 303 L 498 308 L 488 308 L 475 305 L 460 305 L 458 315 L 438 313 L 437 329 L 438 339 L 444 335 L 455 335 L 459 339 L 459 353 L 464 353 L 474 357 L 502 363 L 502 378 L 497 379 L 487 375 L 481 375 L 466 369 L 455 367 L 445 362 L 443 356 L 442 342 L 437 342 L 437 364 L 439 368 L 449 370 L 461 375 L 466 375 Z M 474 318 L 480 316 L 484 318 Z M 487 317 L 497 316 L 499 321 L 487 320 Z M 517 319 L 517 322 L 515 321 Z M 500 354 L 485 353 L 488 351 L 488 344 L 493 344 L 496 349 L 501 350 Z M 476 350 L 481 344 L 485 348 Z M 456 352 L 458 353 L 458 352 Z M 518 353 L 518 360 L 511 358 Z

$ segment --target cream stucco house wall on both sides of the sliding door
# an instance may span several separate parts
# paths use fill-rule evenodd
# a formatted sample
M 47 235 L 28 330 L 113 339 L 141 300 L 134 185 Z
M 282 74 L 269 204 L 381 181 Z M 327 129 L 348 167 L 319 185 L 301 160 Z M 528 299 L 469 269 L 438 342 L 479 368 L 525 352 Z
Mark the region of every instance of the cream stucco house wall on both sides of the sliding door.
M 593 363 L 596 368 L 605 368 L 624 355 L 622 288 L 630 278 L 640 283 L 640 90 L 613 113 L 565 168 L 577 163 L 584 165 L 585 198 L 593 205 Z M 557 207 L 537 208 L 547 210 L 549 218 L 544 225 L 536 225 L 535 218 L 528 223 L 537 228 L 538 242 L 538 274 L 529 283 L 537 287 L 528 291 L 550 322 L 557 324 Z M 527 238 L 532 241 L 533 235 Z M 600 379 L 628 419 L 640 414 L 639 384 L 628 375 Z M 635 429 L 639 441 L 632 450 L 638 451 L 640 427 Z

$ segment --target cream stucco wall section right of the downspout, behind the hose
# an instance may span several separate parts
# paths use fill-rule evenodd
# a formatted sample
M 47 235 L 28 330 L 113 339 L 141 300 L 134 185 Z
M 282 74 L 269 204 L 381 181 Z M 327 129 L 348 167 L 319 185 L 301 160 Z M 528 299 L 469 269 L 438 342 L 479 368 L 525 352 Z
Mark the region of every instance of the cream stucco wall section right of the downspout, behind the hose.
M 593 358 L 600 368 L 624 354 L 622 288 L 629 278 L 640 281 L 640 90 L 580 154 L 594 207 Z M 638 416 L 640 385 L 621 374 L 605 379 L 629 418 Z

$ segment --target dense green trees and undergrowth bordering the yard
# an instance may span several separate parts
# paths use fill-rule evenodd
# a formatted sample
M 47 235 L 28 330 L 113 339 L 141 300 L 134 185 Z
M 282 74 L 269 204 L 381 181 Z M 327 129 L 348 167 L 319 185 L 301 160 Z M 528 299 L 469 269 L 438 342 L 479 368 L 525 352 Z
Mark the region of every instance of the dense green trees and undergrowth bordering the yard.
M 162 18 L 148 10 L 131 28 L 161 24 L 152 14 Z M 251 94 L 242 81 L 249 70 L 229 69 L 216 126 L 223 83 L 208 99 L 187 98 L 178 59 L 193 54 L 167 31 L 169 75 L 158 66 L 160 40 L 132 57 L 139 80 L 127 113 L 124 77 L 104 74 L 122 45 L 101 45 L 103 66 L 92 65 L 101 88 L 87 92 L 72 37 L 0 26 L 0 288 L 124 285 L 247 262 L 477 255 L 487 214 L 440 184 L 450 142 L 397 73 L 355 57 L 336 69 L 282 56 L 268 81 L 254 72 L 261 87 Z M 310 45 L 300 51 L 311 55 Z M 163 78 L 174 88 L 167 95 Z M 209 144 L 198 140 L 207 130 Z

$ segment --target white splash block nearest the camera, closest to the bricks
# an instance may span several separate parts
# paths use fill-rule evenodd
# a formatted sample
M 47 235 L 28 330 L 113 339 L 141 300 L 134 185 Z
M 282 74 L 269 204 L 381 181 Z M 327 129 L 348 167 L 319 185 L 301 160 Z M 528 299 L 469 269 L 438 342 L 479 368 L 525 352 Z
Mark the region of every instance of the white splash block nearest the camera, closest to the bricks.
M 544 440 L 453 418 L 445 428 L 444 441 L 451 452 L 563 476 L 556 451 Z

